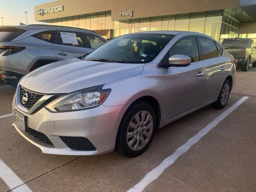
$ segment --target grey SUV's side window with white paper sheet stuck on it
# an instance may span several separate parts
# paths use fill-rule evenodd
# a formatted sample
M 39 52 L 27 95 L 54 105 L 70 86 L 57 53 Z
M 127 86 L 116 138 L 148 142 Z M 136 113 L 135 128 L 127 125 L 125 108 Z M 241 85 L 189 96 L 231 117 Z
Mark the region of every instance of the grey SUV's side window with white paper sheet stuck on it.
M 53 43 L 68 46 L 85 47 L 82 33 L 76 31 L 57 31 Z

